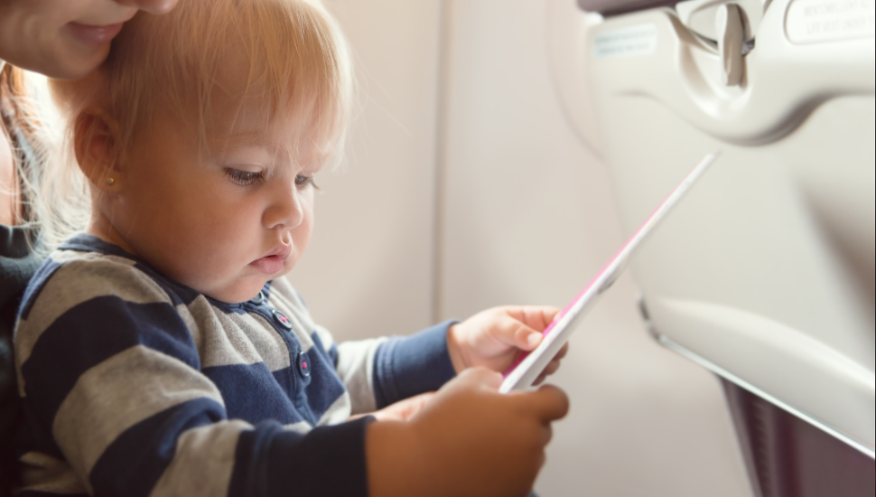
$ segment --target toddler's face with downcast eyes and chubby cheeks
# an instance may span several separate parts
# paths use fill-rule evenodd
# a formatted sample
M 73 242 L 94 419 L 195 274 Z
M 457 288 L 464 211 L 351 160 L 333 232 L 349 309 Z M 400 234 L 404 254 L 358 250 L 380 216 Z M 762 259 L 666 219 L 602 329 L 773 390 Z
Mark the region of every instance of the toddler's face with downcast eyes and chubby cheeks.
M 288 273 L 310 240 L 312 175 L 284 142 L 294 119 L 271 122 L 216 106 L 210 155 L 167 112 L 156 109 L 108 187 L 100 211 L 108 238 L 167 277 L 221 301 L 253 298 Z M 275 119 L 282 121 L 282 119 Z

